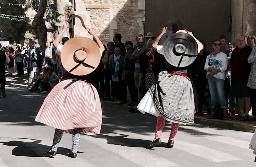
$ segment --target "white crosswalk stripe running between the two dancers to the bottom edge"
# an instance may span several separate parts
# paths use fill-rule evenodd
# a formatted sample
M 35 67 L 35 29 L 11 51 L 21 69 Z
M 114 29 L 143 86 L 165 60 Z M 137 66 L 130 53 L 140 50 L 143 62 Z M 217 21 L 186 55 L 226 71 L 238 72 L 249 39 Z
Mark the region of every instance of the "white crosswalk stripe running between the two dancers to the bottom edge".
M 89 136 L 82 136 L 82 138 L 102 147 L 103 149 L 114 152 L 119 156 L 129 161 L 132 161 L 133 163 L 136 163 L 137 165 L 142 167 L 155 167 L 156 164 L 161 167 L 178 166 L 178 164 L 175 162 L 166 160 L 165 158 L 162 158 L 155 154 L 151 155 L 151 153 L 145 152 L 143 151 L 143 149 L 138 147 L 126 147 L 121 145 L 113 146 L 111 144 L 107 144 L 107 139 L 103 140 L 99 138 L 94 138 L 93 140 L 91 140 L 91 137 Z

